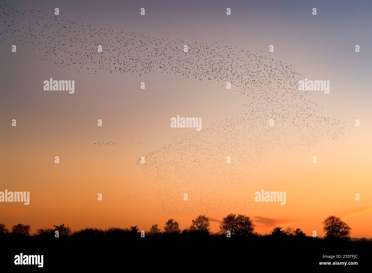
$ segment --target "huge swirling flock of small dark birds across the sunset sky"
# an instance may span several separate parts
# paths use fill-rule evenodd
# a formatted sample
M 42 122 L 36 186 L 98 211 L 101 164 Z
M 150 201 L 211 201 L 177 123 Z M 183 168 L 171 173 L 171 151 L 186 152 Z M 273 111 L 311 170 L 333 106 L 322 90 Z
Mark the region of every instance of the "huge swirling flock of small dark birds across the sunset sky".
M 292 65 L 262 53 L 217 42 L 186 43 L 94 28 L 60 19 L 62 16 L 43 16 L 36 10 L 16 11 L 7 5 L 0 9 L 6 22 L 0 32 L 3 40 L 10 35 L 32 45 L 43 52 L 43 59 L 61 68 L 77 73 L 166 73 L 206 84 L 217 81 L 223 86 L 231 82 L 243 103 L 239 115 L 199 132 L 185 132 L 170 144 L 143 154 L 145 164 L 141 164 L 141 157 L 138 159 L 142 170 L 158 182 L 156 200 L 166 212 L 253 207 L 250 198 L 232 197 L 229 189 L 246 182 L 242 178 L 269 160 L 270 152 L 312 146 L 345 134 L 345 122 L 321 116 L 310 93 L 298 91 L 298 81 L 304 76 Z M 97 52 L 98 45 L 102 53 Z M 183 45 L 188 46 L 187 52 Z M 269 126 L 270 119 L 274 126 Z M 230 164 L 227 157 L 231 157 Z

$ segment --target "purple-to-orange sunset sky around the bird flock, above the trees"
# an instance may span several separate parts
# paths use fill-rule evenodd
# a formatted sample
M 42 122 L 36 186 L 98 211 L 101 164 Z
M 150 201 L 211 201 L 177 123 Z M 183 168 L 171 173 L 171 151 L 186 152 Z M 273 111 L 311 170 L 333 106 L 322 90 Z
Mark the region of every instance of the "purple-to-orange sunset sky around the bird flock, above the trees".
M 346 135 L 314 147 L 268 153 L 269 162 L 241 178 L 232 196 L 286 191 L 287 204 L 168 214 L 155 200 L 157 181 L 137 159 L 182 135 L 170 128 L 176 115 L 202 117 L 203 128 L 239 113 L 241 102 L 221 84 L 181 76 L 75 73 L 42 60 L 42 52 L 7 37 L 0 42 L 0 191 L 30 191 L 29 205 L 0 203 L 0 223 L 37 228 L 65 223 L 73 230 L 138 225 L 181 228 L 198 214 L 251 216 L 260 233 L 274 226 L 322 236 L 322 221 L 342 217 L 352 237 L 372 236 L 371 11 L 370 1 L 4 1 L 17 10 L 40 10 L 96 28 L 237 47 L 294 65 L 309 79 L 327 79 L 331 91 L 312 93 L 322 113 L 347 124 Z M 140 16 L 140 8 L 146 15 Z M 225 15 L 227 7 L 231 16 Z M 317 16 L 311 15 L 313 7 Z M 0 23 L 0 30 L 5 28 Z M 17 52 L 11 46 L 17 45 Z M 355 52 L 355 45 L 360 52 Z M 261 53 L 262 51 L 262 53 Z M 46 92 L 49 78 L 75 80 L 75 93 Z M 139 89 L 145 82 L 146 89 Z M 12 119 L 17 126 L 12 127 Z M 103 127 L 97 127 L 97 119 Z M 355 119 L 360 120 L 356 127 Z M 192 129 L 184 129 L 192 130 Z M 110 147 L 93 145 L 113 141 Z M 138 144 L 139 143 L 139 144 Z M 317 164 L 311 163 L 316 155 Z M 54 157 L 60 157 L 60 164 Z M 97 201 L 97 193 L 103 201 Z M 355 194 L 360 194 L 360 201 Z M 128 195 L 131 197 L 128 198 Z M 133 198 L 132 198 L 133 197 Z

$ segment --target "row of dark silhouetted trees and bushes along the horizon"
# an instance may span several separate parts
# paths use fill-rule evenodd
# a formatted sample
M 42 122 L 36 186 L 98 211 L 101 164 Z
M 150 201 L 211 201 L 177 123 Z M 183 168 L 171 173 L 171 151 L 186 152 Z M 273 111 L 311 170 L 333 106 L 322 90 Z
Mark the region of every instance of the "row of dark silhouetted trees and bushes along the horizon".
M 228 214 L 222 218 L 219 223 L 219 230 L 212 232 L 210 230 L 209 218 L 205 215 L 199 215 L 191 221 L 191 225 L 181 230 L 179 223 L 173 218 L 166 221 L 163 231 L 158 224 L 153 224 L 148 231 L 140 231 L 137 226 L 129 228 L 109 227 L 105 230 L 100 228 L 84 228 L 79 231 L 72 231 L 70 227 L 54 225 L 53 228 L 40 228 L 32 236 L 55 236 L 58 231 L 58 237 L 128 237 L 128 236 L 262 236 L 255 231 L 255 225 L 250 217 L 242 214 Z M 324 239 L 342 239 L 350 240 L 350 231 L 352 228 L 337 216 L 328 216 L 323 221 Z M 17 236 L 31 236 L 31 227 L 29 225 L 17 224 L 9 231 L 4 224 L 0 224 L 0 236 L 6 234 L 15 234 Z M 274 227 L 270 234 L 263 236 L 299 236 L 305 237 L 301 228 L 288 227 L 283 230 L 282 227 Z M 57 236 L 55 236 L 57 237 Z

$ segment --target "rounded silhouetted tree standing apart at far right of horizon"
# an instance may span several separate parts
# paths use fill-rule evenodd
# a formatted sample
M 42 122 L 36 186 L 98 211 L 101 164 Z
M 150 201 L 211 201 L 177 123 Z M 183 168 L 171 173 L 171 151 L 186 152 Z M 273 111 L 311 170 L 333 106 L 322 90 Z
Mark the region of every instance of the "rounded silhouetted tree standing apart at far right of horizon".
M 350 240 L 349 227 L 340 217 L 331 215 L 323 221 L 323 231 L 325 231 L 325 239 L 343 239 Z

